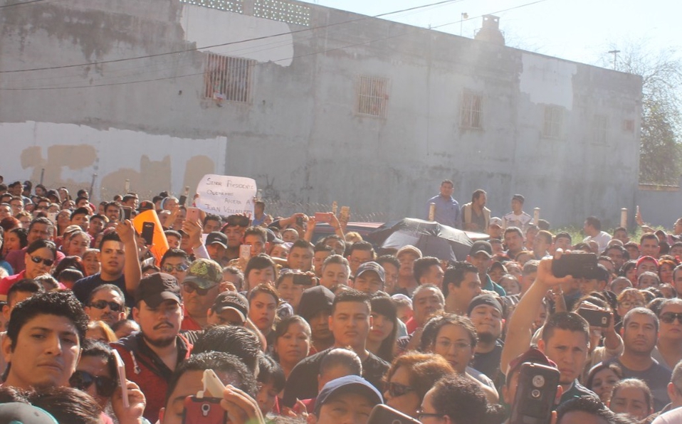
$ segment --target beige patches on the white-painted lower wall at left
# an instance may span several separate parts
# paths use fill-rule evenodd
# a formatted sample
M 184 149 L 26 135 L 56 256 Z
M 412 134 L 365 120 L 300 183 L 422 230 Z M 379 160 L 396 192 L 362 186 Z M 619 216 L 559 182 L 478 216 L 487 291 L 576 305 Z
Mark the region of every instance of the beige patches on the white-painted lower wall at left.
M 31 181 L 37 183 L 41 179 L 41 170 L 45 169 L 43 182 L 48 187 L 65 186 L 70 191 L 90 189 L 92 181 L 75 181 L 63 178 L 62 171 L 66 166 L 73 170 L 94 169 L 98 164 L 95 147 L 88 144 L 56 145 L 48 148 L 47 159 L 43 158 L 41 147 L 27 147 L 21 152 L 21 167 L 33 168 Z M 107 169 L 107 164 L 98 164 L 98 168 Z M 189 186 L 194 193 L 204 174 L 215 171 L 213 159 L 205 155 L 198 155 L 187 159 L 184 169 L 183 186 Z M 120 168 L 104 176 L 98 176 L 96 184 L 100 188 L 100 199 L 108 200 L 115 194 L 122 194 L 125 180 L 130 180 L 132 191 L 142 198 L 151 198 L 160 191 L 172 191 L 172 164 L 169 155 L 160 161 L 153 161 L 145 154 L 140 158 L 140 171 L 132 168 Z M 175 187 L 177 191 L 182 189 Z M 95 190 L 96 191 L 96 190 Z

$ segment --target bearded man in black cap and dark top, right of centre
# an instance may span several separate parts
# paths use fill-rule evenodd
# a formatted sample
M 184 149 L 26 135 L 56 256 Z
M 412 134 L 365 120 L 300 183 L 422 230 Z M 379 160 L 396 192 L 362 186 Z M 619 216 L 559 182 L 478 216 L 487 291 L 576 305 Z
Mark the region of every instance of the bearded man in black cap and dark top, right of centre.
M 503 325 L 502 305 L 493 295 L 476 296 L 469 304 L 468 316 L 478 335 L 476 353 L 469 365 L 495 381 L 500 373 L 503 348 L 499 339 Z

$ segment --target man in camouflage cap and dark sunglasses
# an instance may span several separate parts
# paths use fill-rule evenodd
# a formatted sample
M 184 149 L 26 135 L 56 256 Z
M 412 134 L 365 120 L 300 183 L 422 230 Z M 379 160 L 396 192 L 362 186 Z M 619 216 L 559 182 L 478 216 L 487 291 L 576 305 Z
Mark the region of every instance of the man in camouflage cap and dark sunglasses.
M 206 316 L 218 297 L 222 280 L 223 269 L 214 260 L 197 259 L 189 265 L 182 282 L 184 319 L 181 329 L 200 330 L 208 326 Z

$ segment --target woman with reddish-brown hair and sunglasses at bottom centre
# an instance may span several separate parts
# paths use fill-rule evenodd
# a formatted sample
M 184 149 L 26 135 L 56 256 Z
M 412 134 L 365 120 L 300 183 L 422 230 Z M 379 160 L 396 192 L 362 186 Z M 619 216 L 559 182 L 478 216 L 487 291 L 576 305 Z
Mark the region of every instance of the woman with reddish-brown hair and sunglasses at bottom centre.
M 384 400 L 391 408 L 416 418 L 417 410 L 439 378 L 455 371 L 442 356 L 411 352 L 399 356 L 384 378 Z

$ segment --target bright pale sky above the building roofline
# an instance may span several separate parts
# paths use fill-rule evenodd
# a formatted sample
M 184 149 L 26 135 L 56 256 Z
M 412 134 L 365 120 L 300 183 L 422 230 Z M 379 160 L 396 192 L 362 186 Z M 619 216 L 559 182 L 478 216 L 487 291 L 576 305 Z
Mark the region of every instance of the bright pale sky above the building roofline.
M 308 0 L 309 3 L 376 16 L 439 0 Z M 510 9 L 510 10 L 509 10 Z M 382 17 L 473 38 L 484 14 L 500 17 L 507 46 L 592 65 L 643 44 L 649 51 L 678 50 L 682 2 L 672 0 L 453 0 Z M 468 19 L 460 23 L 461 14 Z M 608 61 L 608 62 L 605 62 Z

